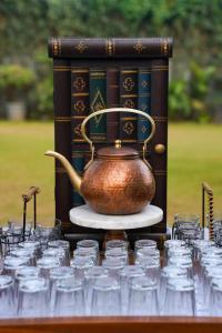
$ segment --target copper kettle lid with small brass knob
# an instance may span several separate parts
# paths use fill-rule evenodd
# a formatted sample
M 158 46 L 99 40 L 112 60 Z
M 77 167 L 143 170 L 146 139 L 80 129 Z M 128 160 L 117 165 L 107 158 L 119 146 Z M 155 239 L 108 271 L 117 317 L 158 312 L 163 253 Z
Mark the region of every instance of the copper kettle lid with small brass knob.
M 113 147 L 101 148 L 97 152 L 99 159 L 128 160 L 138 159 L 139 152 L 130 147 L 121 147 L 121 140 L 115 140 Z

